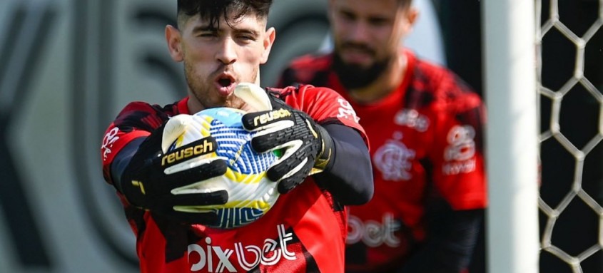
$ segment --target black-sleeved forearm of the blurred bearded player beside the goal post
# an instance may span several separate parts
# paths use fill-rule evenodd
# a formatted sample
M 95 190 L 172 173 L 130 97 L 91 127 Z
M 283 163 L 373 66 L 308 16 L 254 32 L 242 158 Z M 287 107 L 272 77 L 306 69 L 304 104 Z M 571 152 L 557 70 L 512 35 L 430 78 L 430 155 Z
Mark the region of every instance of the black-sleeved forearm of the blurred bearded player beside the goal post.
M 428 235 L 425 246 L 399 273 L 458 273 L 467 268 L 480 232 L 484 210 L 451 212 L 437 235 Z

